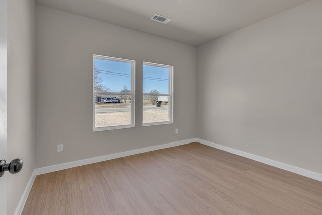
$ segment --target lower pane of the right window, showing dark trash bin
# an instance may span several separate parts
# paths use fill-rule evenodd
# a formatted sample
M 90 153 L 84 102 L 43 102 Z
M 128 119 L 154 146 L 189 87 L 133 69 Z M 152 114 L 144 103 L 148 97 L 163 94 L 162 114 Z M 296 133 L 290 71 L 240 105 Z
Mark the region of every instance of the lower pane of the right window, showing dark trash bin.
M 157 104 L 159 103 L 160 104 Z M 143 124 L 169 121 L 169 96 L 143 96 Z

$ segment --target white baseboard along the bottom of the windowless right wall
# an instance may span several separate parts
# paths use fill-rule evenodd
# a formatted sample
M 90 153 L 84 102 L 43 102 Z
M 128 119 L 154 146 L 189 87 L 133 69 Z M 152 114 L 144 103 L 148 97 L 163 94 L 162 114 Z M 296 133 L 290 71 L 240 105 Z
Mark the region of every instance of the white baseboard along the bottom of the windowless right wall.
M 251 154 L 251 153 L 247 153 L 247 152 L 243 152 L 243 151 L 240 151 L 240 150 L 232 149 L 232 148 L 229 148 L 229 147 L 225 147 L 225 146 L 222 146 L 222 145 L 219 145 L 219 144 L 214 144 L 213 142 L 209 142 L 209 141 L 206 141 L 206 140 L 203 140 L 203 139 L 196 138 L 196 142 L 200 142 L 203 145 L 213 147 L 213 148 L 216 148 L 216 149 L 220 149 L 220 150 L 223 150 L 223 151 L 226 151 L 226 152 L 230 152 L 230 153 L 235 154 L 235 155 L 240 155 L 240 156 L 243 156 L 245 158 L 249 158 L 249 159 L 264 163 L 264 164 L 268 164 L 268 165 L 273 166 L 273 167 L 277 167 L 277 168 L 280 168 L 280 169 L 283 169 L 283 170 L 287 170 L 289 172 L 293 172 L 293 173 L 296 173 L 296 174 L 299 174 L 299 175 L 302 175 L 302 176 L 305 176 L 305 177 L 308 177 L 308 178 L 312 178 L 312 179 L 315 179 L 315 180 L 318 180 L 318 181 L 322 181 L 322 174 L 319 174 L 319 173 L 316 173 L 316 172 L 305 170 L 305 169 L 302 169 L 302 168 L 299 168 L 299 167 L 294 167 L 294 166 L 289 165 L 289 164 L 284 164 L 284 163 L 281 163 L 281 162 L 278 162 L 278 161 L 274 161 L 274 160 L 271 160 L 271 159 L 268 159 L 268 158 L 264 158 L 264 157 L 257 156 L 257 155 Z

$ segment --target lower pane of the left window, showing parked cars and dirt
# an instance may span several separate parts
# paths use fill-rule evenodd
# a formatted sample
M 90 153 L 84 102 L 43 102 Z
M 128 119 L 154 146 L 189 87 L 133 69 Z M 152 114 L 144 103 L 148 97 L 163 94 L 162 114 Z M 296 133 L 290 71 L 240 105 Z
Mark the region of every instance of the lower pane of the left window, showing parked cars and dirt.
M 95 128 L 131 124 L 131 95 L 96 95 Z

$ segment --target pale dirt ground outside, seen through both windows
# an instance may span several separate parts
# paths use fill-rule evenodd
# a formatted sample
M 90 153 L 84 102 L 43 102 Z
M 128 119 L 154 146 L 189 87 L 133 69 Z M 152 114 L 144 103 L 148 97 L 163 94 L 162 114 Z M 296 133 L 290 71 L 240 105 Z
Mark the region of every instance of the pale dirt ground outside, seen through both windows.
M 144 101 L 145 105 L 152 105 L 150 101 Z M 165 105 L 165 104 L 162 104 Z M 167 105 L 168 106 L 168 105 Z M 96 103 L 95 108 L 126 108 L 131 103 Z M 168 110 L 144 110 L 143 123 L 168 121 Z M 96 113 L 95 127 L 118 126 L 131 124 L 131 112 Z

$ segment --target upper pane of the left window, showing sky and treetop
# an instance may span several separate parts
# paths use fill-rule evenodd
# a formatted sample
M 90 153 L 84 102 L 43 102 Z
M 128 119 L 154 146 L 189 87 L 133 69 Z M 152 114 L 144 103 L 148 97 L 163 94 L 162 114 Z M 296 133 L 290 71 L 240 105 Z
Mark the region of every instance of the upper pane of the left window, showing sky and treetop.
M 131 92 L 132 63 L 94 59 L 95 88 L 108 92 Z

